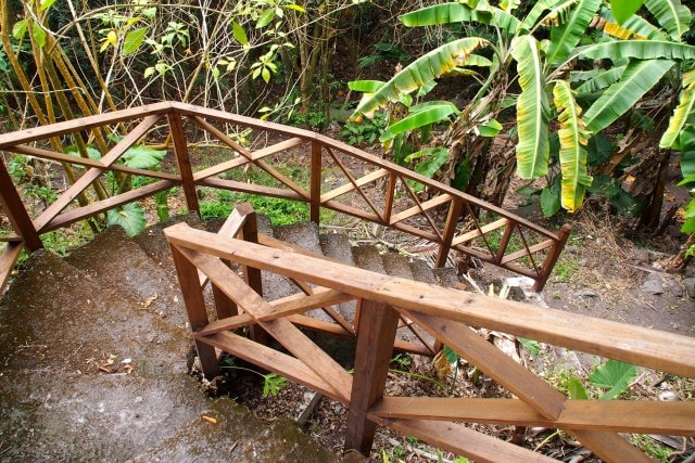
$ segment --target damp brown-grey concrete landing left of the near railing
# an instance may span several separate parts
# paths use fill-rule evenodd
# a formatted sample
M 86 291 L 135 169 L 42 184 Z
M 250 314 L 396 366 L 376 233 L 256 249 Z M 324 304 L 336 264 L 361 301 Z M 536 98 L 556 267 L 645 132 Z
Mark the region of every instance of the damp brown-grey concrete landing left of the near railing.
M 117 229 L 86 247 L 80 268 L 35 253 L 0 298 L 1 462 L 340 460 L 293 422 L 206 397 L 164 266 Z

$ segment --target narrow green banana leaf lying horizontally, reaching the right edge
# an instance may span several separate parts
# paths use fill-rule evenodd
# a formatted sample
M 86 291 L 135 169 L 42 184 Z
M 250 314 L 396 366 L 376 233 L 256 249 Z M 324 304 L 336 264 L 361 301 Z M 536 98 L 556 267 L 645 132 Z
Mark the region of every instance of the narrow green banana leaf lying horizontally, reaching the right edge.
M 665 40 L 616 40 L 580 47 L 576 54 L 590 60 L 635 57 L 637 60 L 695 60 L 695 47 Z

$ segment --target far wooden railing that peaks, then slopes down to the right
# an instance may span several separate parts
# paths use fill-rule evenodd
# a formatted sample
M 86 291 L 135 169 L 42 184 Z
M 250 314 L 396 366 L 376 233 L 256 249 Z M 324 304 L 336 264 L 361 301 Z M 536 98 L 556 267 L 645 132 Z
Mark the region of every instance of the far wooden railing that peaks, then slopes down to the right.
M 122 133 L 124 127 L 127 134 L 114 146 L 106 146 L 106 134 Z M 229 127 L 239 132 L 252 129 L 256 134 L 280 141 L 247 147 L 228 134 Z M 203 136 L 224 146 L 228 158 L 212 167 L 198 168 L 193 165 L 188 144 Z M 48 143 L 49 140 L 54 143 Z M 99 159 L 87 154 L 86 146 L 91 140 L 96 141 L 93 147 L 101 153 Z M 118 163 L 134 144 L 163 142 L 174 166 L 170 171 L 139 169 Z M 59 153 L 51 150 L 51 145 L 76 145 L 81 156 Z M 278 166 L 287 164 L 287 153 L 298 150 L 311 156 L 311 163 L 306 163 L 311 164 L 311 175 L 302 184 L 278 169 Z M 569 234 L 568 227 L 553 233 L 502 208 L 328 137 L 182 103 L 163 102 L 0 134 L 0 151 L 85 168 L 56 201 L 37 217 L 29 217 L 4 164 L 0 162 L 0 205 L 15 232 L 1 239 L 10 245 L 0 258 L 0 283 L 7 279 L 22 246 L 29 250 L 41 247 L 42 233 L 172 187 L 182 188 L 189 210 L 199 208 L 198 187 L 303 202 L 308 205 L 309 217 L 316 222 L 321 208 L 332 209 L 428 240 L 437 250 L 438 267 L 445 263 L 453 248 L 530 276 L 535 280 L 539 291 Z M 256 185 L 226 178 L 227 172 L 244 168 L 267 172 L 277 185 Z M 103 181 L 108 171 L 142 176 L 152 182 L 112 197 L 90 201 L 88 189 L 99 188 L 98 183 Z

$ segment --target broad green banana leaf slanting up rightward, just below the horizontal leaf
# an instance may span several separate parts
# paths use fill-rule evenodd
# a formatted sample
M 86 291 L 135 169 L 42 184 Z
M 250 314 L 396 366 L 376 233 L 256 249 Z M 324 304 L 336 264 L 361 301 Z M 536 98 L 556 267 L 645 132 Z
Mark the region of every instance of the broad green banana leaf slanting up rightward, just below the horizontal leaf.
M 586 128 L 597 133 L 608 127 L 634 106 L 672 66 L 671 60 L 630 62 L 620 80 L 610 86 L 586 111 Z

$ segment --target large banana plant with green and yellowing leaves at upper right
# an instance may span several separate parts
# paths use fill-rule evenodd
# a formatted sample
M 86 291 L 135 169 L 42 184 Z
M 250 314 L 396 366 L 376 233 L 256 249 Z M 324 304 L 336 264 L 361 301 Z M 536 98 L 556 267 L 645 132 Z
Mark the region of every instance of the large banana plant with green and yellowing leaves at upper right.
M 479 154 L 467 152 L 465 146 L 475 144 L 471 140 L 480 138 L 481 127 L 495 120 L 503 108 L 514 105 L 517 175 L 527 180 L 559 175 L 561 188 L 557 192 L 561 206 L 574 211 L 592 183 L 586 168 L 587 140 L 631 110 L 667 73 L 678 69 L 677 63 L 695 57 L 695 48 L 680 39 L 690 22 L 690 11 L 680 0 L 646 0 L 644 7 L 655 24 L 623 7 L 616 10 L 620 21 L 602 0 L 541 0 L 525 14 L 518 2 L 501 2 L 496 7 L 488 0 L 463 0 L 416 10 L 401 16 L 405 26 L 473 23 L 478 29 L 491 31 L 494 38 L 486 35 L 454 40 L 415 60 L 389 81 L 372 82 L 375 91 L 363 99 L 355 116 L 370 117 L 379 108 L 397 105 L 404 95 L 432 87 L 437 79 L 452 73 L 473 73 L 480 78 L 479 90 L 465 107 L 457 108 L 454 121 L 441 139 L 450 152 L 448 169 L 442 179 L 457 187 L 467 185 L 467 191 L 485 190 L 480 184 L 472 189 L 467 184 L 478 181 L 470 173 L 475 170 L 470 166 L 472 157 Z M 488 66 L 478 64 L 481 60 L 477 56 L 490 55 Z M 607 68 L 593 69 L 597 60 L 609 63 Z M 690 83 L 685 87 L 692 90 Z M 519 87 L 521 91 L 517 93 Z M 678 125 L 682 127 L 693 100 L 691 92 L 677 108 L 673 128 L 667 131 L 669 140 L 680 130 Z M 439 121 L 446 123 L 452 114 L 455 113 Z M 417 120 L 422 119 L 410 114 L 392 120 L 388 130 L 393 132 L 394 127 L 415 130 L 420 127 Z M 557 168 L 549 156 L 552 128 L 560 137 Z M 462 169 L 464 165 L 468 167 Z M 548 172 L 548 166 L 558 172 Z M 456 178 L 462 171 L 469 176 L 463 182 Z M 485 170 L 482 181 L 500 173 Z M 503 189 L 505 184 L 497 183 Z

